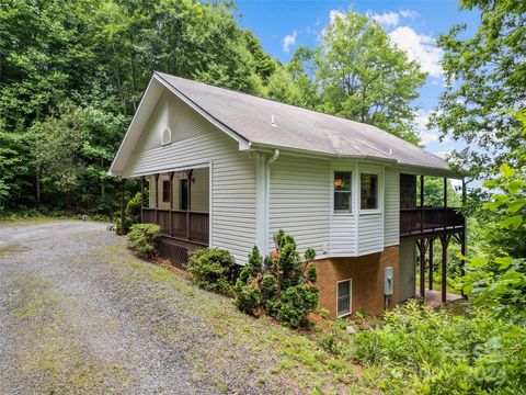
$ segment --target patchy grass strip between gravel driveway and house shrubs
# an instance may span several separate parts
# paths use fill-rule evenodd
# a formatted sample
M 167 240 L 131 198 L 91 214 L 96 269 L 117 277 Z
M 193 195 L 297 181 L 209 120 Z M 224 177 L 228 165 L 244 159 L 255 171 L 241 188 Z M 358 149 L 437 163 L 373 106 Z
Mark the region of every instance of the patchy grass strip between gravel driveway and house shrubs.
M 300 332 L 277 324 L 263 316 L 254 318 L 240 313 L 231 298 L 206 292 L 193 285 L 186 278 L 162 267 L 130 258 L 122 245 L 107 246 L 98 259 L 126 267 L 129 272 L 126 281 L 132 284 L 151 281 L 158 284 L 151 294 L 155 302 L 169 303 L 170 297 L 179 309 L 191 311 L 206 327 L 214 331 L 217 342 L 206 348 L 197 345 L 188 350 L 185 359 L 193 363 L 196 376 L 210 372 L 227 371 L 230 361 L 238 358 L 240 350 L 245 352 L 245 374 L 253 377 L 254 385 L 271 385 L 277 392 L 286 393 L 377 393 L 376 383 L 363 381 L 357 366 L 348 352 L 335 356 L 319 346 L 319 340 L 328 335 L 320 328 Z M 195 330 L 195 331 L 194 331 Z M 167 341 L 184 337 L 198 337 L 198 328 L 158 328 L 158 334 Z M 339 329 L 342 330 L 342 329 Z M 345 334 L 345 347 L 352 347 L 352 336 Z M 214 358 L 209 358 L 214 356 Z M 214 381 L 214 379 L 207 377 Z M 227 391 L 225 383 L 216 380 L 219 391 Z M 230 388 L 231 391 L 232 388 Z

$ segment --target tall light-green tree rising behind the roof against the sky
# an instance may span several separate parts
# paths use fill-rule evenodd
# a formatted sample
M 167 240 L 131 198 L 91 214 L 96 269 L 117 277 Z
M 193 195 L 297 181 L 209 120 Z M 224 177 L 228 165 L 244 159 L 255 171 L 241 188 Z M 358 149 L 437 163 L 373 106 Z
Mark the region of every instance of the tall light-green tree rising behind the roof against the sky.
M 426 76 L 380 25 L 355 12 L 336 16 L 322 34 L 316 63 L 318 110 L 419 142 L 411 102 Z

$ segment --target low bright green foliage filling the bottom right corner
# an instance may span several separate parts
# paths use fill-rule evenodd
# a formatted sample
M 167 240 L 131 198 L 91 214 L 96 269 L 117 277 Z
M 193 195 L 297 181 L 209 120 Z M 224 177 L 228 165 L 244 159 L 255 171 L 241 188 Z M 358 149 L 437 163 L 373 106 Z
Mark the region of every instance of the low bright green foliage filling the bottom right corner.
M 381 370 L 389 393 L 522 393 L 526 330 L 479 313 L 453 316 L 411 302 L 357 332 L 354 356 Z

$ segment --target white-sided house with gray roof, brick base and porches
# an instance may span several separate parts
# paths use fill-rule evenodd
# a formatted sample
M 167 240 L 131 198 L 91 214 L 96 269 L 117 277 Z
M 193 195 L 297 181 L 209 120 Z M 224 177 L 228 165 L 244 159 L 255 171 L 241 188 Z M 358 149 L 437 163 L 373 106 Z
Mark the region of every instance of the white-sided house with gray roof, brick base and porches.
M 443 159 L 370 125 L 161 72 L 110 172 L 148 187 L 141 219 L 161 226 L 175 263 L 209 246 L 244 264 L 278 229 L 315 248 L 320 306 L 334 317 L 413 297 L 416 250 L 423 295 L 428 247 L 443 246 L 445 274 L 450 239 L 466 245 L 447 193 L 424 204 L 425 177 L 458 178 Z

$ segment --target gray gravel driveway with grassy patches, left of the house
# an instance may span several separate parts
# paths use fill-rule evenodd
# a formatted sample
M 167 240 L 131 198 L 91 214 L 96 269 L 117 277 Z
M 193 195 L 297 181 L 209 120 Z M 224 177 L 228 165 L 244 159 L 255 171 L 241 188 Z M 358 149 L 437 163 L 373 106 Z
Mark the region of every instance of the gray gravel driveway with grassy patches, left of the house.
M 0 225 L 2 394 L 301 392 L 254 321 L 103 224 Z

